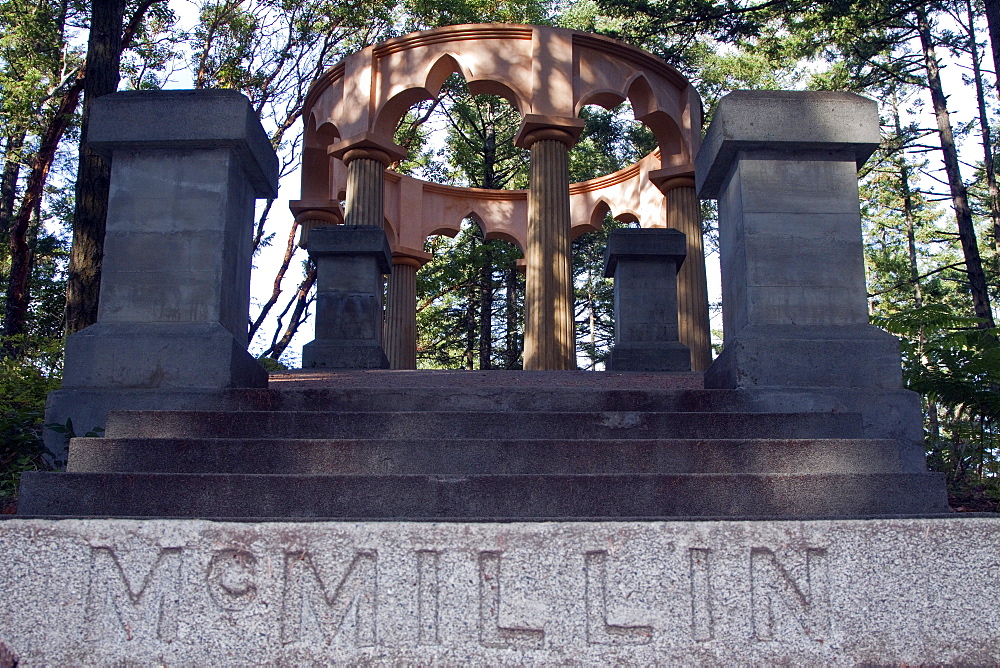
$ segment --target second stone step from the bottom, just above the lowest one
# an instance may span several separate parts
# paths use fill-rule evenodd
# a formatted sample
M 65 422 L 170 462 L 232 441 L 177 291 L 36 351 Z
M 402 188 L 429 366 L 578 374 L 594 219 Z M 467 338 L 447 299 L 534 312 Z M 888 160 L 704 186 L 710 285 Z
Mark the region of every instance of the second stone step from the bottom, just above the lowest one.
M 75 438 L 73 473 L 685 474 L 897 473 L 875 439 L 128 439 Z

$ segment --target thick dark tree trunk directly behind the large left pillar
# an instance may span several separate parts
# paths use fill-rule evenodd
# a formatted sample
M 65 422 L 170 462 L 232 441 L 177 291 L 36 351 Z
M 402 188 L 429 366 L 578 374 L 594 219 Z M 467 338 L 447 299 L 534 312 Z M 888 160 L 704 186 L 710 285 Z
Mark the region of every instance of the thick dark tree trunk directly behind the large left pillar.
M 124 15 L 125 0 L 92 3 L 80 132 L 80 166 L 73 212 L 73 248 L 70 251 L 66 289 L 67 333 L 97 322 L 111 166 L 87 145 L 87 125 L 91 103 L 118 90 Z

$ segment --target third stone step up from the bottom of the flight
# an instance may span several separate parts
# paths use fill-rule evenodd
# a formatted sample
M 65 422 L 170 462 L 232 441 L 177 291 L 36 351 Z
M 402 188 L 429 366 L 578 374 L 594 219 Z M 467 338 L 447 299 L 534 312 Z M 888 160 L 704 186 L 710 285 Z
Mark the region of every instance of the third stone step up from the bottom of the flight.
M 116 411 L 109 438 L 860 438 L 855 413 Z

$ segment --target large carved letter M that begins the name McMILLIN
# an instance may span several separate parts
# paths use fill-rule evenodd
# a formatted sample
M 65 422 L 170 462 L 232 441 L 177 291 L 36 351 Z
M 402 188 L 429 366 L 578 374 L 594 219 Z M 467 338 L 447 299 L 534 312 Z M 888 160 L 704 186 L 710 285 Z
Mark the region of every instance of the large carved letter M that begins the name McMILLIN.
M 116 631 L 127 640 L 176 638 L 180 569 L 179 547 L 161 548 L 152 565 L 139 569 L 123 567 L 110 547 L 92 547 L 84 613 L 87 640 Z

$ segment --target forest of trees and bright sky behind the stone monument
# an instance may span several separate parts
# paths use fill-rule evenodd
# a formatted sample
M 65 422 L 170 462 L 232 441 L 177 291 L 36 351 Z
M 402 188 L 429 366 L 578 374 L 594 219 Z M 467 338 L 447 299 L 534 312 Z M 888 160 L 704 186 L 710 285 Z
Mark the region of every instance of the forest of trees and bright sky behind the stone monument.
M 310 338 L 316 274 L 285 209 L 298 197 L 310 84 L 367 45 L 481 22 L 556 25 L 644 48 L 698 88 L 706 127 L 737 89 L 877 100 L 882 145 L 859 175 L 872 322 L 902 340 L 907 386 L 923 398 L 928 462 L 947 473 L 953 507 L 1000 508 L 1000 0 L 0 0 L 0 507 L 14 508 L 21 472 L 53 465 L 43 429 L 69 437 L 92 427 L 43 424 L 63 340 L 96 318 L 108 167 L 83 141 L 90 102 L 123 89 L 213 87 L 251 100 L 282 174 L 280 199 L 261 202 L 254 221 L 251 351 L 269 368 L 295 366 Z M 654 146 L 627 106 L 581 116 L 574 181 Z M 408 156 L 393 168 L 525 187 L 517 120 L 505 100 L 472 97 L 453 76 L 400 123 Z M 711 255 L 711 203 L 703 212 Z M 601 261 L 620 224 L 609 218 L 574 241 L 584 369 L 602 368 L 613 337 Z M 484 240 L 470 220 L 427 250 L 420 366 L 520 368 L 517 249 Z

